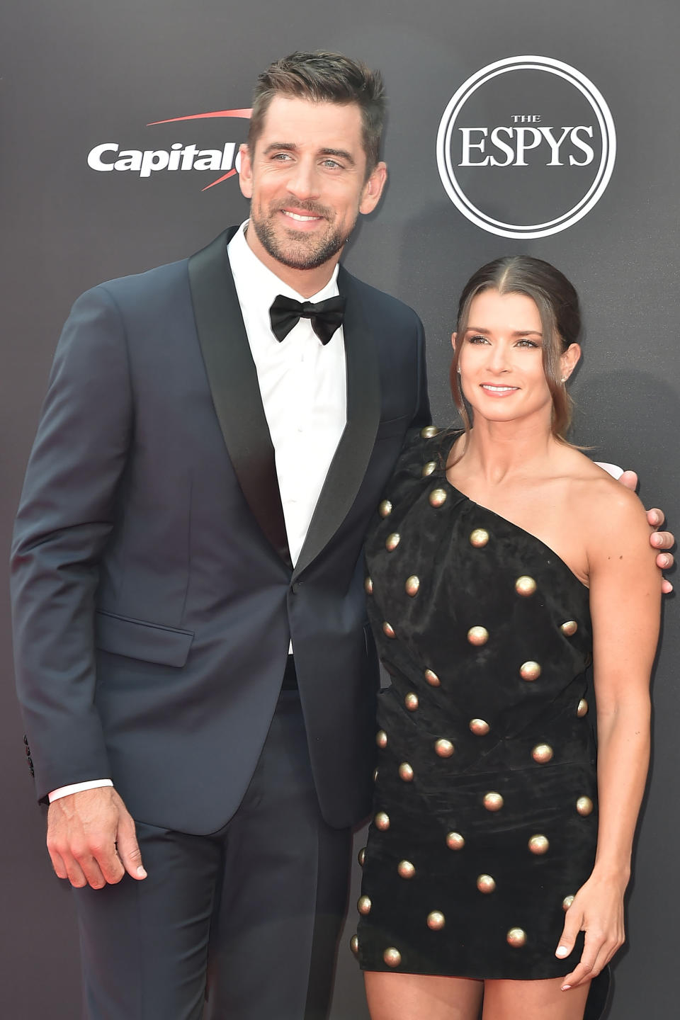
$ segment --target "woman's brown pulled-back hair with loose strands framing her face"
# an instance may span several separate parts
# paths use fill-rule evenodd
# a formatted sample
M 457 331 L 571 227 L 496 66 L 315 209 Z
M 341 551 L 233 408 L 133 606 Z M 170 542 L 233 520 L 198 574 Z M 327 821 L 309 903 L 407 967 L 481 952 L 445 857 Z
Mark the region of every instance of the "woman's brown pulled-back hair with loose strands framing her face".
M 477 269 L 463 288 L 458 305 L 456 333 L 458 342 L 451 365 L 451 392 L 465 424 L 470 430 L 470 418 L 463 399 L 458 374 L 462 341 L 468 327 L 470 305 L 482 291 L 499 294 L 525 294 L 535 302 L 543 335 L 543 371 L 553 398 L 551 427 L 563 442 L 571 421 L 572 399 L 562 381 L 560 356 L 581 333 L 581 310 L 578 294 L 567 277 L 550 262 L 530 255 L 506 255 Z

